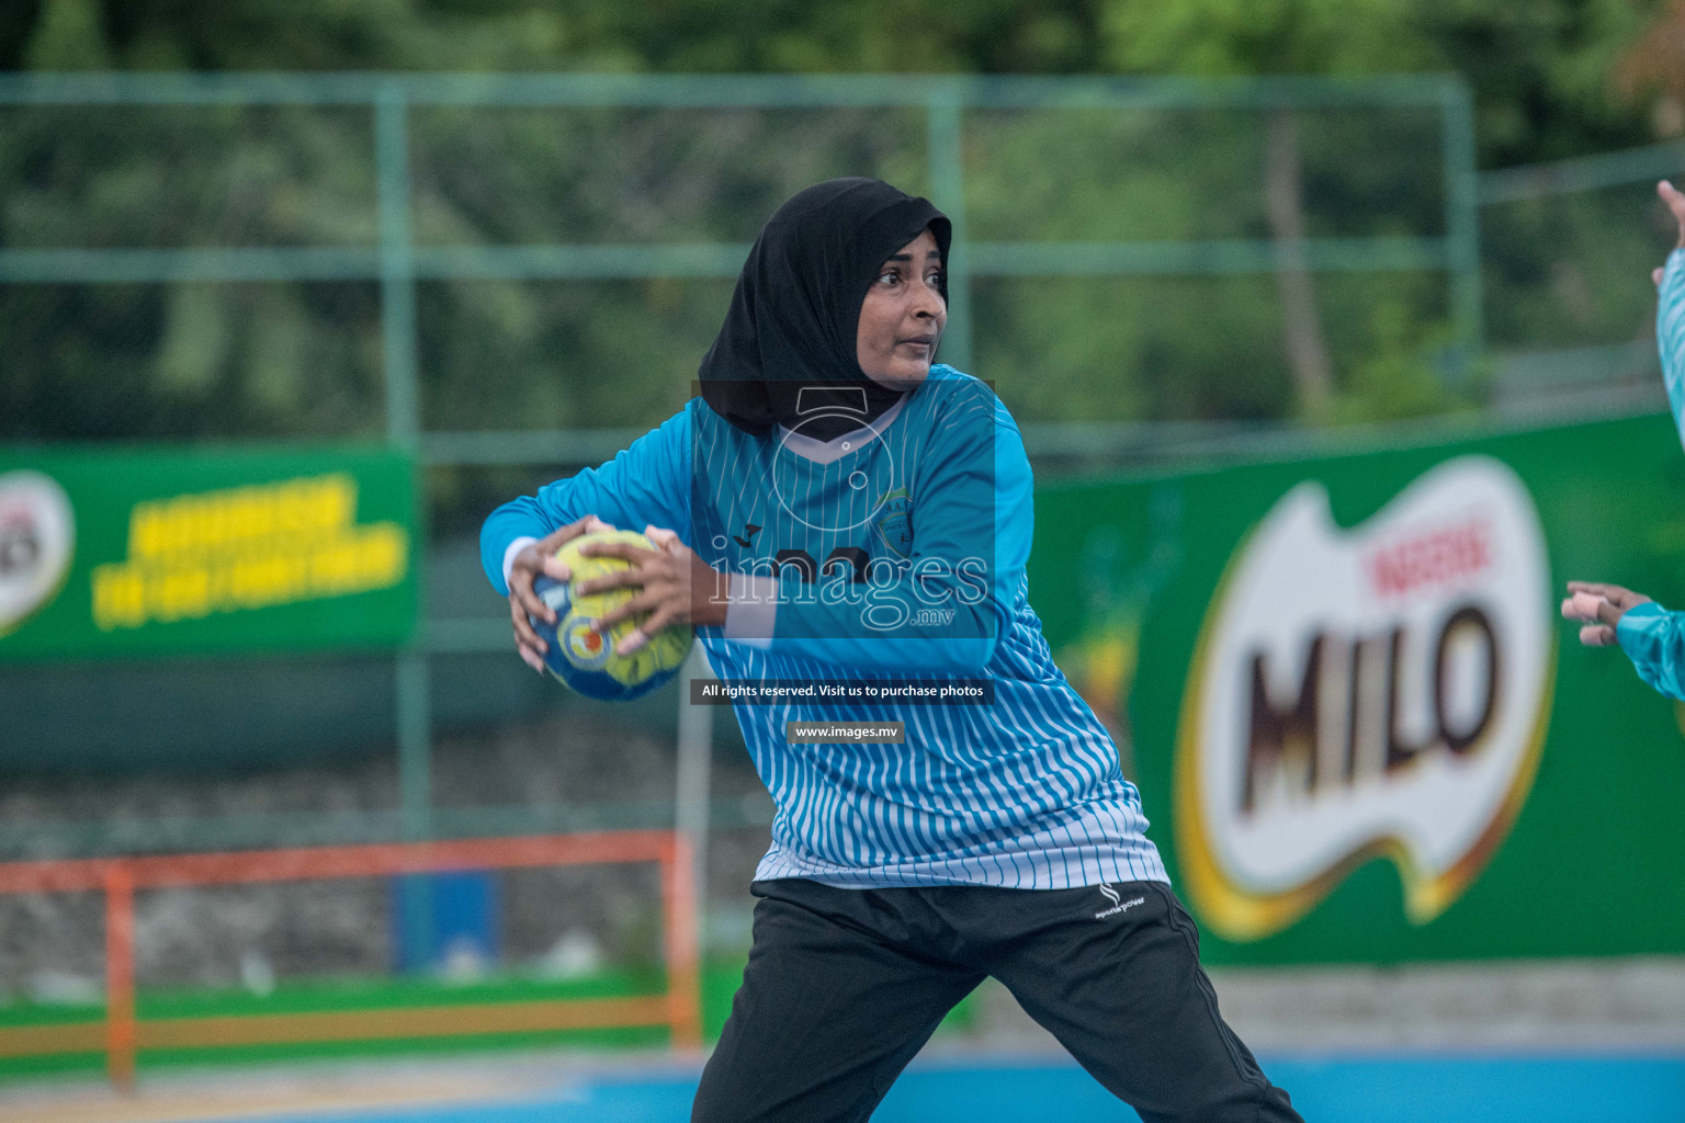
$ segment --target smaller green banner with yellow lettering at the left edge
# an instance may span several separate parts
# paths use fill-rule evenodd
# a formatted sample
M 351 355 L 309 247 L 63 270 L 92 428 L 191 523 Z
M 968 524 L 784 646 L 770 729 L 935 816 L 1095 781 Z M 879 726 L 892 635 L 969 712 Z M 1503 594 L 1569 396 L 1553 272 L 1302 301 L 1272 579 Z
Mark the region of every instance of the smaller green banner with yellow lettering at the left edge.
M 0 660 L 394 647 L 415 527 L 386 450 L 0 450 Z

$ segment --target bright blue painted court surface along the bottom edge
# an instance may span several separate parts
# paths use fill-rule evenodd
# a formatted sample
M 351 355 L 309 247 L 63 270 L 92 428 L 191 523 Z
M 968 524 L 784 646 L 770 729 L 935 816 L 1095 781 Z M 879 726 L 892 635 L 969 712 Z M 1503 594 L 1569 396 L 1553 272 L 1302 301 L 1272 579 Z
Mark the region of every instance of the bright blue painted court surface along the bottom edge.
M 1308 1123 L 1680 1123 L 1685 1056 L 1264 1057 Z M 519 1099 L 258 1116 L 256 1123 L 682 1123 L 694 1071 L 571 1078 Z M 254 1116 L 241 1116 L 253 1123 Z M 873 1123 L 1131 1123 L 1082 1069 L 1051 1061 L 915 1066 Z

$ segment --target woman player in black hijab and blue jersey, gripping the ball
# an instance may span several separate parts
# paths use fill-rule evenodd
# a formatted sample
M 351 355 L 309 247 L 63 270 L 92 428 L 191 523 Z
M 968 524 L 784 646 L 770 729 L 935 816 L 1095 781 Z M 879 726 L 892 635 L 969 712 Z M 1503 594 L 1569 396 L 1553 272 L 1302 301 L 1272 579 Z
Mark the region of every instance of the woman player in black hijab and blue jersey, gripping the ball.
M 984 977 L 1149 1123 L 1297 1120 L 1217 1010 L 1198 936 L 1105 729 L 1026 599 L 1031 478 L 1011 416 L 932 365 L 949 221 L 888 184 L 785 202 L 750 251 L 701 396 L 598 470 L 500 507 L 487 574 L 516 647 L 556 549 L 602 525 L 632 650 L 693 625 L 716 673 L 891 689 L 976 680 L 986 704 L 738 704 L 777 803 L 753 948 L 693 1120 L 864 1120 Z M 787 722 L 903 722 L 805 744 Z

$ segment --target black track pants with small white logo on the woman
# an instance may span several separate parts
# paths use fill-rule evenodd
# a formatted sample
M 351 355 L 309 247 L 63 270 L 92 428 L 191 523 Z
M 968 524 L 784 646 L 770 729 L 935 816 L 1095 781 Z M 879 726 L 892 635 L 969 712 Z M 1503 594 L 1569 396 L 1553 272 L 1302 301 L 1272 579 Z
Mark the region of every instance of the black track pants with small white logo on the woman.
M 832 889 L 755 882 L 755 945 L 693 1123 L 858 1123 L 992 975 L 1146 1123 L 1299 1121 L 1217 1012 L 1159 882 Z

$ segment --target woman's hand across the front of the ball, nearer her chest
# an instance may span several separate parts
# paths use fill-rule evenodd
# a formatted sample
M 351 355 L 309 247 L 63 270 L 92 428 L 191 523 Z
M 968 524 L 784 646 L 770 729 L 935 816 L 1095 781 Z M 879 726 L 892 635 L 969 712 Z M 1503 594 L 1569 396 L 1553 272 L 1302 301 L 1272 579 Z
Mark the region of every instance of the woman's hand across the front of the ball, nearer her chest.
M 718 626 L 726 621 L 728 576 L 698 557 L 672 530 L 644 527 L 644 537 L 655 549 L 645 551 L 630 542 L 593 542 L 580 551 L 590 557 L 620 557 L 632 562 L 630 569 L 581 581 L 578 588 L 581 594 L 622 588 L 639 591 L 596 623 L 598 631 L 608 631 L 629 616 L 649 613 L 649 620 L 639 630 L 615 645 L 622 655 L 639 650 L 649 643 L 649 636 L 672 625 Z

